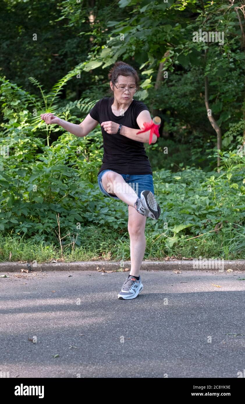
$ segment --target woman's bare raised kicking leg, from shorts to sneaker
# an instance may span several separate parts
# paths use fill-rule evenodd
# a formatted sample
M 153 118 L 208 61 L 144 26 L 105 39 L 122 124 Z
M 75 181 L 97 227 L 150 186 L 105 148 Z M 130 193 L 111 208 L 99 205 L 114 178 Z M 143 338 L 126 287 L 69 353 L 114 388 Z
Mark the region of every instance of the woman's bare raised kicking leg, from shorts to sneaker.
M 120 200 L 135 208 L 138 196 L 120 174 L 115 171 L 107 171 L 103 174 L 101 181 L 103 188 L 109 194 L 116 195 Z

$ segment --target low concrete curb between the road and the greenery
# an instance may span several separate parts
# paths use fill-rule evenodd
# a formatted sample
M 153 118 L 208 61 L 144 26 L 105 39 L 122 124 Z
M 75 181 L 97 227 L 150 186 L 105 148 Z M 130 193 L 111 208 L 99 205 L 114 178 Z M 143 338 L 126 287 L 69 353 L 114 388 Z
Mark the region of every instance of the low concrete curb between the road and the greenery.
M 124 261 L 123 268 L 131 267 L 130 261 Z M 76 261 L 76 262 L 51 262 L 51 263 L 19 263 L 19 262 L 1 262 L 0 272 L 15 272 L 20 269 L 31 269 L 32 271 L 97 271 L 105 269 L 105 271 L 113 271 L 120 268 L 120 262 L 113 261 Z M 222 272 L 227 269 L 245 271 L 245 260 L 237 261 L 224 261 L 224 260 L 205 260 L 202 261 L 182 260 L 182 261 L 148 261 L 142 262 L 142 270 L 156 271 L 156 270 L 181 270 L 190 271 L 196 269 L 213 270 Z

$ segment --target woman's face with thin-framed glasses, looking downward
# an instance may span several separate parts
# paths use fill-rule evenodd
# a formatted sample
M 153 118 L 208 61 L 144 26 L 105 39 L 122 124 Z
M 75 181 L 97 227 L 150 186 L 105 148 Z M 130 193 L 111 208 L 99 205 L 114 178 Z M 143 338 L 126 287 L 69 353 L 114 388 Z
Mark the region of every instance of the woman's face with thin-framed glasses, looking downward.
M 134 78 L 132 76 L 118 76 L 117 81 L 115 86 L 110 82 L 110 87 L 112 91 L 114 91 L 114 98 L 122 104 L 131 103 L 136 93 Z M 125 90 L 125 88 L 127 88 L 127 90 Z

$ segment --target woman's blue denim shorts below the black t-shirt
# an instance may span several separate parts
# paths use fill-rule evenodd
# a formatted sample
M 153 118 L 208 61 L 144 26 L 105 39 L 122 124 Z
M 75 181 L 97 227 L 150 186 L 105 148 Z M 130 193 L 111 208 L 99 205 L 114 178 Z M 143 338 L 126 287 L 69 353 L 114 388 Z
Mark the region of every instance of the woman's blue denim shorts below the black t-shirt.
M 101 178 L 106 171 L 113 171 L 113 170 L 103 170 L 101 173 L 98 175 L 98 184 L 99 184 L 99 189 L 103 194 L 106 196 L 110 196 L 111 198 L 114 199 L 120 199 L 117 196 L 112 195 L 108 193 L 103 185 Z M 152 191 L 152 194 L 154 194 L 154 185 L 153 185 L 153 177 L 151 174 L 120 174 L 125 182 L 133 188 L 133 190 L 136 192 L 137 196 L 140 196 L 141 192 L 146 190 Z

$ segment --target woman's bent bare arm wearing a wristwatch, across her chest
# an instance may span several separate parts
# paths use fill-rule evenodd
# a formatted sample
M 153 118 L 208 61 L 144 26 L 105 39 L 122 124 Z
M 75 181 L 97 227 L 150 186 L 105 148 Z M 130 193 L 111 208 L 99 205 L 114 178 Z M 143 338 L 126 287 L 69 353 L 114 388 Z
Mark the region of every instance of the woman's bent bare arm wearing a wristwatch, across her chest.
M 139 125 L 139 128 L 143 129 L 143 124 L 144 122 L 151 122 L 152 118 L 150 116 L 150 112 L 145 110 L 139 113 L 137 116 L 137 124 Z M 117 133 L 119 124 L 116 124 L 115 122 L 112 121 L 107 121 L 107 122 L 102 122 L 101 126 L 104 127 L 104 129 L 107 129 L 107 133 Z M 150 130 L 144 133 L 139 133 L 139 135 L 136 135 L 136 133 L 139 131 L 139 129 L 132 129 L 128 128 L 127 126 L 122 126 L 120 130 L 120 135 L 126 136 L 129 139 L 136 140 L 138 142 L 143 142 L 143 143 L 149 143 L 149 136 L 150 136 Z M 152 143 L 156 143 L 157 136 L 153 134 L 152 138 Z

